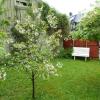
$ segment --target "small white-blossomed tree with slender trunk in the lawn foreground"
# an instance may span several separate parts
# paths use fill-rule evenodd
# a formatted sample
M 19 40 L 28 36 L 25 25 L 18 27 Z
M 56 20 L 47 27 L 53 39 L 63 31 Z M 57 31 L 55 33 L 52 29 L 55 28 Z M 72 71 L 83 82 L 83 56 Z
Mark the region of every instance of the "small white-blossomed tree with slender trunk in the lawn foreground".
M 41 19 L 40 8 L 33 10 L 33 16 L 27 16 L 21 22 L 17 21 L 15 27 L 12 28 L 10 53 L 14 64 L 23 67 L 31 75 L 34 98 L 36 77 L 48 78 L 50 75 L 58 75 L 51 61 L 57 55 L 61 35 L 59 35 L 59 30 L 50 36 L 46 33 L 48 27 Z M 56 25 L 53 19 L 51 17 L 50 23 Z M 61 64 L 58 63 L 57 66 L 61 67 Z

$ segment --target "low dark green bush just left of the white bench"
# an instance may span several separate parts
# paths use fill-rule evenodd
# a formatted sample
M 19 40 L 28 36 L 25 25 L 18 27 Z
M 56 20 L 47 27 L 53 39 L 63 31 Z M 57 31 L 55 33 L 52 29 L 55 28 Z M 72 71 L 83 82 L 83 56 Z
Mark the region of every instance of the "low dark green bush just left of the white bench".
M 58 58 L 72 58 L 72 48 L 61 48 L 58 54 Z

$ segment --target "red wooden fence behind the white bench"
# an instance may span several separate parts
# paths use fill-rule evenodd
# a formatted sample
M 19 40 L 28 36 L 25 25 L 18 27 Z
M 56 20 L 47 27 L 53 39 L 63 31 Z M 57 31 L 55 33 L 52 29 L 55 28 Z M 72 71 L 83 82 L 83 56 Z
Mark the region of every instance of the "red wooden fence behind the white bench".
M 88 47 L 90 48 L 90 58 L 99 58 L 99 43 L 85 40 L 64 40 L 63 47 Z

